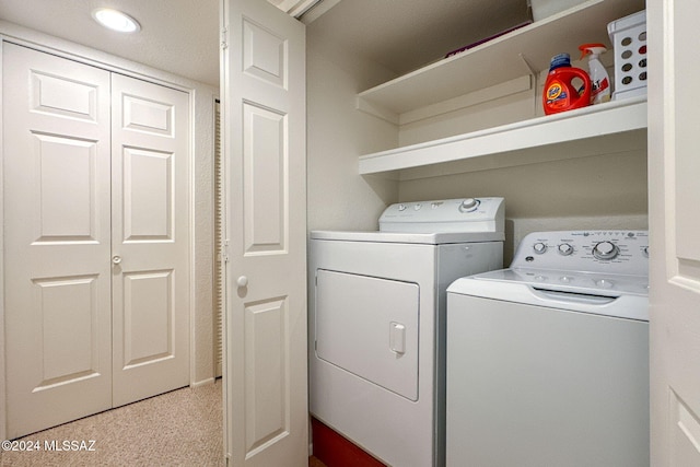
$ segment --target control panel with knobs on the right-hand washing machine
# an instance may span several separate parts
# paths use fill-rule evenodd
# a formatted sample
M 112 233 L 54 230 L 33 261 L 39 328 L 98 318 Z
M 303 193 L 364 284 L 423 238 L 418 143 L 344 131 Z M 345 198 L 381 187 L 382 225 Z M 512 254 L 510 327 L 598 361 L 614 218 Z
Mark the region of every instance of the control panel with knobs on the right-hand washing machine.
M 649 232 L 534 232 L 518 245 L 511 268 L 648 276 Z

